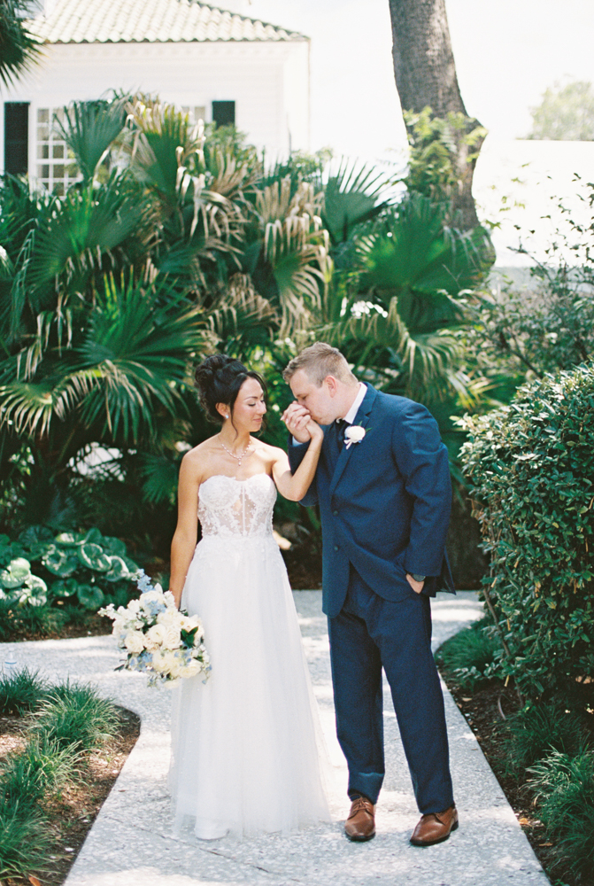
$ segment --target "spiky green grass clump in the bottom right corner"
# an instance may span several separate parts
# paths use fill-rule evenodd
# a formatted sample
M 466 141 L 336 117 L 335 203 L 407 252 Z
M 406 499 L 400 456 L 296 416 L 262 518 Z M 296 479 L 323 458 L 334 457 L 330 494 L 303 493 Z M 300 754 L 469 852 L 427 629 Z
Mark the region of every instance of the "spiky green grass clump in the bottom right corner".
M 594 752 L 571 757 L 555 750 L 530 772 L 538 816 L 554 838 L 559 860 L 575 873 L 594 870 Z

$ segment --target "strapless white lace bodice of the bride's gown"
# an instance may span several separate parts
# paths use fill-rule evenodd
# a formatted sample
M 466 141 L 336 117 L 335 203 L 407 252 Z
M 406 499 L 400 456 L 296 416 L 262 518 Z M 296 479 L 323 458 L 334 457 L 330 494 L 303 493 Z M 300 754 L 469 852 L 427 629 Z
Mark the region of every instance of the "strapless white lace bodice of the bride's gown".
M 203 537 L 262 536 L 273 532 L 276 487 L 267 474 L 236 480 L 215 474 L 200 484 L 198 519 Z

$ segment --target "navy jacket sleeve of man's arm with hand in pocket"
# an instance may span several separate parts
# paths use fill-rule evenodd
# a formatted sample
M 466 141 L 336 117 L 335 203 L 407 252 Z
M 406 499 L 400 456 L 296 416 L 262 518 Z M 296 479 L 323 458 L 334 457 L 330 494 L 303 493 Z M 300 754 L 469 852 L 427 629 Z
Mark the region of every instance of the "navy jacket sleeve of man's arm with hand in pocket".
M 403 565 L 408 572 L 439 576 L 450 523 L 450 464 L 436 420 L 420 403 L 407 401 L 395 422 L 392 450 L 413 501 Z

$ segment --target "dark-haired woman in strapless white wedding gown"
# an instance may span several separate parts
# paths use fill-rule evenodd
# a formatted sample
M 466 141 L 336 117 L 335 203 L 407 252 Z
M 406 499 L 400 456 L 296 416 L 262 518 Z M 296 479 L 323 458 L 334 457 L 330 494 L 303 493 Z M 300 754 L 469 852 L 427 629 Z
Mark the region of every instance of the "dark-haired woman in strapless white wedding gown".
M 287 832 L 329 816 L 315 700 L 272 512 L 277 489 L 291 501 L 305 495 L 323 432 L 303 419 L 312 444 L 292 475 L 282 449 L 251 436 L 266 413 L 256 372 L 215 354 L 196 380 L 206 414 L 222 427 L 181 462 L 170 590 L 202 618 L 212 672 L 176 690 L 175 824 L 191 821 L 205 840 Z

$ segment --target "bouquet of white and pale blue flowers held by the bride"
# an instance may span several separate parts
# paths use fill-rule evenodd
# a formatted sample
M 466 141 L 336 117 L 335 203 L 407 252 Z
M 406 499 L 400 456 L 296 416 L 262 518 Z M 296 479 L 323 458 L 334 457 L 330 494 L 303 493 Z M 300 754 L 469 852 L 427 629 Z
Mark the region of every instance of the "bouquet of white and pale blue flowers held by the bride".
M 149 674 L 149 686 L 173 683 L 181 677 L 211 670 L 204 647 L 204 631 L 197 615 L 178 610 L 174 595 L 154 587 L 141 569 L 137 573 L 141 595 L 126 607 L 117 610 L 113 603 L 99 610 L 99 615 L 112 618 L 113 636 L 120 649 L 126 649 L 127 660 L 116 671 L 142 671 Z

